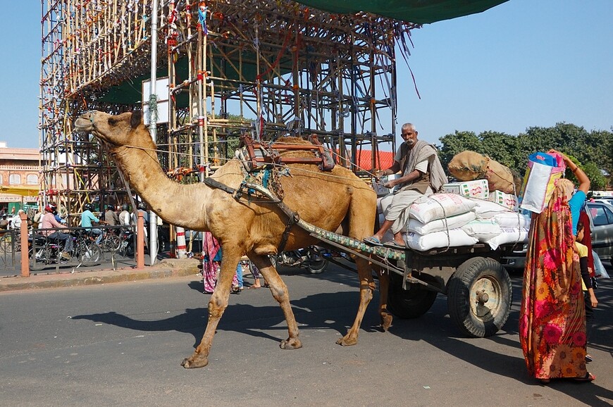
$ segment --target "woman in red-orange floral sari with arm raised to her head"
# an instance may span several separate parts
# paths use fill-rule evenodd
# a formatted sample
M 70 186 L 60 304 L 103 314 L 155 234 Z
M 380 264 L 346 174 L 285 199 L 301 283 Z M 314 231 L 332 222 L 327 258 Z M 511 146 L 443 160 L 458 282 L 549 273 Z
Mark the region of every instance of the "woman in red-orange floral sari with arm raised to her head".
M 557 180 L 547 208 L 533 215 L 519 315 L 528 373 L 543 383 L 562 377 L 595 380 L 586 369 L 586 311 L 571 216 L 571 207 L 574 211 L 582 196 L 585 201 L 590 181 L 563 157 L 581 183 L 578 196 L 571 199 L 572 182 Z

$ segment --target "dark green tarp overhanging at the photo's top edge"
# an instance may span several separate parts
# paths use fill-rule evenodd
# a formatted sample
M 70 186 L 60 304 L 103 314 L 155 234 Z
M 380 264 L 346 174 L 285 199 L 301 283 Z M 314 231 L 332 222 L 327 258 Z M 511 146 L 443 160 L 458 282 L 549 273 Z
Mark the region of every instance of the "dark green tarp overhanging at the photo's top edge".
M 481 13 L 508 0 L 297 0 L 330 13 L 365 11 L 409 23 L 429 24 Z

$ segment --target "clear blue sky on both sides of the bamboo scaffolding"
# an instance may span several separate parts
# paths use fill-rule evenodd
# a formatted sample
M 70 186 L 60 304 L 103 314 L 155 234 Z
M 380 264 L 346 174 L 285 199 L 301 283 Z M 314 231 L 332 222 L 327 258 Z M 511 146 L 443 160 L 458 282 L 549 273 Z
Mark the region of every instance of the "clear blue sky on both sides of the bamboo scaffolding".
M 5 3 L 0 141 L 37 148 L 40 4 Z M 558 122 L 611 130 L 612 18 L 612 0 L 510 0 L 415 30 L 409 63 L 421 100 L 399 61 L 399 124 L 413 122 L 429 142 L 454 130 L 518 134 Z

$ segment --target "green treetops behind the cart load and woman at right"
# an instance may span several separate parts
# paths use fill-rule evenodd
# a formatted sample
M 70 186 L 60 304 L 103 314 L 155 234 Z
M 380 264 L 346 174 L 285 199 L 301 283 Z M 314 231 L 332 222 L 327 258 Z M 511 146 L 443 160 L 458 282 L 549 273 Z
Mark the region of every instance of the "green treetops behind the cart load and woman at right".
M 613 128 L 612 128 L 613 130 Z M 440 159 L 443 168 L 455 154 L 464 150 L 476 151 L 501 164 L 507 165 L 522 176 L 526 172 L 528 156 L 536 151 L 557 149 L 569 156 L 586 172 L 592 182 L 591 189 L 605 189 L 609 174 L 609 186 L 613 187 L 613 133 L 607 130 L 588 132 L 583 127 L 557 123 L 554 127 L 528 127 L 516 136 L 501 132 L 459 132 L 440 137 Z M 574 175 L 567 174 L 576 182 Z

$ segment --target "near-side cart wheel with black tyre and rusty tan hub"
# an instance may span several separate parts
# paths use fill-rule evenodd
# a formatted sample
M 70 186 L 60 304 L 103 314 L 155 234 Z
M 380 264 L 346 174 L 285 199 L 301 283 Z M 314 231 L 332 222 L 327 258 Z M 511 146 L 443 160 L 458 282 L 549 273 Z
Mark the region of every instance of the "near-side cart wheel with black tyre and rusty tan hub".
M 474 257 L 460 265 L 447 290 L 449 315 L 470 337 L 489 337 L 509 318 L 512 286 L 507 270 L 491 259 Z

